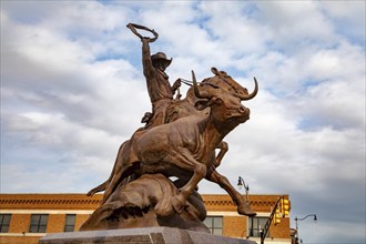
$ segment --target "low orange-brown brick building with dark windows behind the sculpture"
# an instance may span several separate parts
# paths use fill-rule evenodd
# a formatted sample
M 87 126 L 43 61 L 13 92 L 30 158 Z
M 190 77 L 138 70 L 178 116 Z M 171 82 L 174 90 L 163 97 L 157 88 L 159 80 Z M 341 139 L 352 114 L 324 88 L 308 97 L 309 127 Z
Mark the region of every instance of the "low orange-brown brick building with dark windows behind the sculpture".
M 288 199 L 288 195 L 281 195 Z M 236 213 L 228 195 L 202 195 L 207 210 L 205 224 L 217 235 L 248 238 L 260 243 L 265 225 L 279 195 L 250 195 L 255 217 Z M 38 243 L 45 233 L 78 231 L 99 206 L 102 195 L 84 194 L 0 194 L 0 243 Z M 265 243 L 289 244 L 289 218 L 272 224 Z

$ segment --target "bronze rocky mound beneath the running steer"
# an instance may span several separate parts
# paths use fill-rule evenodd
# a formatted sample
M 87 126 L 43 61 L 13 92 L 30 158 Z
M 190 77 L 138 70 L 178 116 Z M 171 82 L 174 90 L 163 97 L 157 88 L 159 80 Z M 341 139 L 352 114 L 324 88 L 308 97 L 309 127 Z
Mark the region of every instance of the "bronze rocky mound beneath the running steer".
M 144 174 L 130 183 L 121 184 L 80 231 L 164 226 L 210 233 L 202 223 L 206 217 L 206 210 L 196 191 L 181 212 L 174 211 L 172 199 L 179 192 L 175 184 L 162 174 Z

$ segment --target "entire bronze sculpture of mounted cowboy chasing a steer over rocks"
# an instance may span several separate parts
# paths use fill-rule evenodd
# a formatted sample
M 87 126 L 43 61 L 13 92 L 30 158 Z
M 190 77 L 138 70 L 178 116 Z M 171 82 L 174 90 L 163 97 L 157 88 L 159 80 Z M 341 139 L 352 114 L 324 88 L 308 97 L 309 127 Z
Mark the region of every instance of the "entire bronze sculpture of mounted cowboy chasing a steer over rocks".
M 173 100 L 181 81 L 171 88 L 164 73 L 169 60 L 160 53 L 155 55 L 160 63 L 155 60 L 153 64 L 148 49 L 157 33 L 139 24 L 128 27 L 143 42 L 144 74 L 153 111 L 143 120 L 145 128 L 120 146 L 109 180 L 88 193 L 104 191 L 101 206 L 81 230 L 171 226 L 207 232 L 202 224 L 206 212 L 196 192 L 202 179 L 223 187 L 240 214 L 255 215 L 244 197 L 216 171 L 227 151 L 223 139 L 250 119 L 250 110 L 241 101 L 256 95 L 255 78 L 254 91 L 248 93 L 224 71 L 212 68 L 214 77 L 200 84 L 192 71 L 193 85 L 186 98 Z M 135 29 L 151 31 L 154 38 L 144 38 Z M 156 91 L 159 82 L 162 93 Z M 217 155 L 216 149 L 221 149 Z M 177 180 L 173 182 L 171 176 Z

